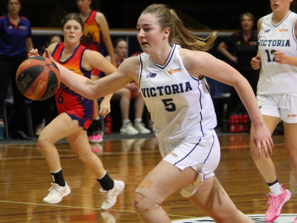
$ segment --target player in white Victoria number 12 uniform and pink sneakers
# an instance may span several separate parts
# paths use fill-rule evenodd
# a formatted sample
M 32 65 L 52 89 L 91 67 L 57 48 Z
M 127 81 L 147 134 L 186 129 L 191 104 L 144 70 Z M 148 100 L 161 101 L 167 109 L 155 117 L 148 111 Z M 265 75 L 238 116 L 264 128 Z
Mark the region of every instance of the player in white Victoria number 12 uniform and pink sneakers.
M 280 120 L 285 130 L 287 149 L 292 171 L 297 179 L 297 14 L 290 11 L 293 0 L 270 0 L 272 13 L 260 18 L 258 25 L 258 54 L 252 58 L 253 69 L 261 67 L 257 86 L 257 102 L 270 133 Z M 254 131 L 252 126 L 251 136 Z M 280 185 L 274 163 L 270 157 L 259 158 L 257 148 L 250 141 L 252 158 L 263 175 L 271 192 L 266 222 L 280 215 L 282 205 L 291 193 Z M 293 223 L 297 223 L 297 218 Z

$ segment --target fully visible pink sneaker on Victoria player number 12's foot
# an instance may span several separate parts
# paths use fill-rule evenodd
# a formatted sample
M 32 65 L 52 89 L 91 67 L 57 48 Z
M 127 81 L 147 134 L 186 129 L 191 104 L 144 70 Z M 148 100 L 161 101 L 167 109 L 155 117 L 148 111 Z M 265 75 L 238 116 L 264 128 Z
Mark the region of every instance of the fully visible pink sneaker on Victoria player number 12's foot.
M 267 204 L 269 204 L 269 207 L 265 213 L 266 222 L 273 222 L 275 219 L 277 219 L 282 213 L 282 205 L 284 205 L 285 202 L 287 202 L 291 198 L 291 192 L 285 189 L 284 185 L 281 186 L 282 193 L 278 196 L 276 194 L 272 194 L 271 192 L 267 194 L 267 196 L 270 198 L 267 202 Z

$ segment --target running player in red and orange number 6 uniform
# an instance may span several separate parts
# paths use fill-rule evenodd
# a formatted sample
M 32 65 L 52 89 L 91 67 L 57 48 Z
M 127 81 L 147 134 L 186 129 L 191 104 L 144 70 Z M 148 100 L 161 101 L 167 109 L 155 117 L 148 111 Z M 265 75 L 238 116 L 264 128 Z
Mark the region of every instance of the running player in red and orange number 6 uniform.
M 110 74 L 116 68 L 100 53 L 89 50 L 79 43 L 83 34 L 83 21 L 75 14 L 70 13 L 62 20 L 64 43 L 53 43 L 48 47 L 53 58 L 61 65 L 72 70 L 79 76 L 90 78 L 91 70 L 96 67 Z M 32 49 L 28 56 L 38 55 Z M 110 100 L 112 94 L 105 96 Z M 91 169 L 102 186 L 101 192 L 105 193 L 105 201 L 101 209 L 107 210 L 116 203 L 116 197 L 124 189 L 124 182 L 112 180 L 103 167 L 101 160 L 92 153 L 88 142 L 86 129 L 94 116 L 93 100 L 84 98 L 65 84 L 61 84 L 56 92 L 56 104 L 59 115 L 51 121 L 40 133 L 38 145 L 50 167 L 52 183 L 49 194 L 43 202 L 55 204 L 70 193 L 70 188 L 64 180 L 59 153 L 54 145 L 66 137 L 78 158 Z M 102 112 L 105 117 L 110 112 L 110 105 Z

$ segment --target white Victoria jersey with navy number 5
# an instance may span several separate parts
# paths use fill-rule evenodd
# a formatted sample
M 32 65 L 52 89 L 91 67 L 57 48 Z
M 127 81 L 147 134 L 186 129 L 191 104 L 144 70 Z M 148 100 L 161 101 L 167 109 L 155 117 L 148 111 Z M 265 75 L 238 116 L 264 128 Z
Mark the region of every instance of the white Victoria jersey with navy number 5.
M 179 56 L 180 46 L 171 46 L 164 66 L 155 64 L 149 54 L 138 56 L 139 87 L 161 143 L 183 139 L 217 125 L 205 78 L 192 77 Z

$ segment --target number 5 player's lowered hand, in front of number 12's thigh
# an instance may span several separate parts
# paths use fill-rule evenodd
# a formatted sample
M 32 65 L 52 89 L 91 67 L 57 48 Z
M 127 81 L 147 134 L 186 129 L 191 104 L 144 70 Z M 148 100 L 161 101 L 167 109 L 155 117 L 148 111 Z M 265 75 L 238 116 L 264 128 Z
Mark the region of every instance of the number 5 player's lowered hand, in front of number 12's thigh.
M 267 158 L 269 155 L 272 156 L 273 141 L 266 125 L 254 126 L 253 142 L 257 147 L 260 158 L 262 157 L 261 147 Z

